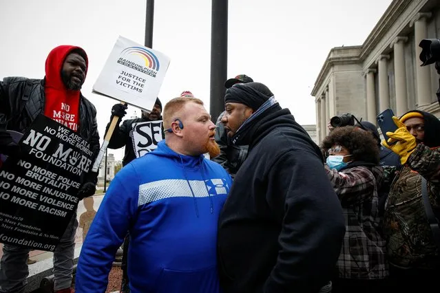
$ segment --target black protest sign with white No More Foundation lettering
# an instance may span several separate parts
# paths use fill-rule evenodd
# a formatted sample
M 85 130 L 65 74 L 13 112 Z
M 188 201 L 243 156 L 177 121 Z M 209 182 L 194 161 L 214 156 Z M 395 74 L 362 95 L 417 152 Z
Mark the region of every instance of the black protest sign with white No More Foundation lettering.
M 39 115 L 20 140 L 20 160 L 0 169 L 0 242 L 53 251 L 78 206 L 92 166 L 90 145 Z

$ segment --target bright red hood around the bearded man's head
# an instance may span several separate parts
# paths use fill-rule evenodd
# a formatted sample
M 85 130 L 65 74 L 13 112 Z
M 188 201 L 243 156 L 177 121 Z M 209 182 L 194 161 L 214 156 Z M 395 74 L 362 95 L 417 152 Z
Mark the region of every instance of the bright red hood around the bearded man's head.
M 87 65 L 87 68 L 89 67 L 87 54 L 85 54 L 85 51 L 81 47 L 72 45 L 61 45 L 55 47 L 52 51 L 50 51 L 48 58 L 46 59 L 45 87 L 67 91 L 61 78 L 61 69 L 63 68 L 63 63 L 67 55 L 75 49 L 83 52 L 81 55 L 85 57 L 85 65 Z M 87 69 L 85 74 L 87 74 Z

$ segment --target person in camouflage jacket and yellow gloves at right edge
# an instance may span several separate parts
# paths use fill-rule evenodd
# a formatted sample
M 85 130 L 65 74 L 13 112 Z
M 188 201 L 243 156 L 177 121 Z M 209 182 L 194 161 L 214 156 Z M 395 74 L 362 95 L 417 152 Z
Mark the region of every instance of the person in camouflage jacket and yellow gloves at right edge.
M 438 221 L 440 121 L 417 110 L 392 119 L 398 128 L 386 133 L 383 144 L 399 155 L 402 168 L 392 181 L 384 215 L 390 279 L 399 292 L 408 292 L 416 279 L 420 292 L 428 292 L 440 276 L 440 239 L 434 237 L 439 226 L 433 224 L 432 230 L 426 209 Z

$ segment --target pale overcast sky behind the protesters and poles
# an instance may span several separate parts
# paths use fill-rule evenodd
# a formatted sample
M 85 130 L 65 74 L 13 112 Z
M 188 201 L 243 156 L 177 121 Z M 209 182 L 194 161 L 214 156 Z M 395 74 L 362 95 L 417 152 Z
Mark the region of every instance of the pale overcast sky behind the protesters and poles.
M 0 78 L 43 78 L 57 45 L 78 45 L 89 56 L 83 94 L 98 109 L 101 141 L 116 102 L 92 86 L 118 38 L 144 43 L 141 0 L 3 0 Z M 315 124 L 310 93 L 332 47 L 362 45 L 390 0 L 229 0 L 228 77 L 247 74 L 266 84 L 300 124 Z M 159 98 L 163 105 L 190 90 L 209 110 L 211 1 L 156 0 L 155 50 L 171 59 Z M 133 115 L 130 107 L 127 118 Z M 137 111 L 139 113 L 139 111 Z M 122 151 L 114 153 L 121 160 Z

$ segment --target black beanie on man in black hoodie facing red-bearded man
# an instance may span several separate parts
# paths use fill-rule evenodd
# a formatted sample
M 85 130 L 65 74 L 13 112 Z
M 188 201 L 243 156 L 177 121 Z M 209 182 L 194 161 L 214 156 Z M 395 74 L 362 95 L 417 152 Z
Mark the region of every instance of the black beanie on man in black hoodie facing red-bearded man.
M 272 91 L 262 83 L 238 83 L 226 90 L 224 103 L 238 102 L 256 111 L 271 96 Z

